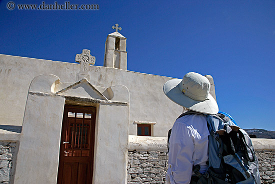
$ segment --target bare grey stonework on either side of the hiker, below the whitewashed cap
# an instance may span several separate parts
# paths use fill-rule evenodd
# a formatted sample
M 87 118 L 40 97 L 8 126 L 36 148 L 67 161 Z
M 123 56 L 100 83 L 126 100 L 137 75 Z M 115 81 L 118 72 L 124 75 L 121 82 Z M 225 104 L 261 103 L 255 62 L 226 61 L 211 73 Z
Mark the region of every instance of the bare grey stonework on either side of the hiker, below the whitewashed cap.
M 275 152 L 256 151 L 261 183 L 275 183 Z M 166 152 L 128 151 L 127 184 L 166 183 Z

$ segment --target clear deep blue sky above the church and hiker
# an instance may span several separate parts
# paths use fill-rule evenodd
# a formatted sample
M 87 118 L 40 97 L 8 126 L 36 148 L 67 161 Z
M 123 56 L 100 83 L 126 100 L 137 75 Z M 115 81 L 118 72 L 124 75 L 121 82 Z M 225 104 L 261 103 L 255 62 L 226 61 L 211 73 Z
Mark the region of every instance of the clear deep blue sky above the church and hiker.
M 128 70 L 175 78 L 210 74 L 220 111 L 242 128 L 275 130 L 274 0 L 56 1 L 99 10 L 18 10 L 18 0 L 8 10 L 9 2 L 0 0 L 0 54 L 74 62 L 89 49 L 102 66 L 106 37 L 118 23 L 127 38 Z

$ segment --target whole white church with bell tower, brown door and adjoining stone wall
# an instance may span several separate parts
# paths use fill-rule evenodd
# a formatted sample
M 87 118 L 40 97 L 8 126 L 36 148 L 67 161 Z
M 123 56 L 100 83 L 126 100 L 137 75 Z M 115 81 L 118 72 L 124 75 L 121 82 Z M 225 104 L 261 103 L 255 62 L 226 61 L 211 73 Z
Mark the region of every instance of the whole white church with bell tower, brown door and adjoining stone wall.
M 77 63 L 0 55 L 0 182 L 164 182 L 167 131 L 182 108 L 162 92 L 172 78 L 127 70 L 126 38 L 113 28 L 103 67 L 87 49 Z

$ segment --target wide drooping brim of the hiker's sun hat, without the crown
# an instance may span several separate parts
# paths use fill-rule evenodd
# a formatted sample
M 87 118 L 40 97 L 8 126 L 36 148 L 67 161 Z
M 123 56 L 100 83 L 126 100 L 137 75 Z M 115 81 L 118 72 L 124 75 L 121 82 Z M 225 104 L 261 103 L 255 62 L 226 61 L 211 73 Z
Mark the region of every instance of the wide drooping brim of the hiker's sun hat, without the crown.
M 180 79 L 172 79 L 163 85 L 164 94 L 176 104 L 203 114 L 217 114 L 218 106 L 215 99 L 208 94 L 204 101 L 193 100 L 185 96 L 179 89 Z

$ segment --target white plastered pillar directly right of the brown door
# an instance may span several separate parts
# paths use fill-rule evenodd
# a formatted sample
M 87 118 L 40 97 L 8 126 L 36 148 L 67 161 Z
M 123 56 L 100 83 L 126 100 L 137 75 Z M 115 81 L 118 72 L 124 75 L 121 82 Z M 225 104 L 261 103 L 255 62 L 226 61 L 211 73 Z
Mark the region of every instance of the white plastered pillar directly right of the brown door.
M 129 106 L 100 104 L 98 110 L 93 183 L 127 183 Z

